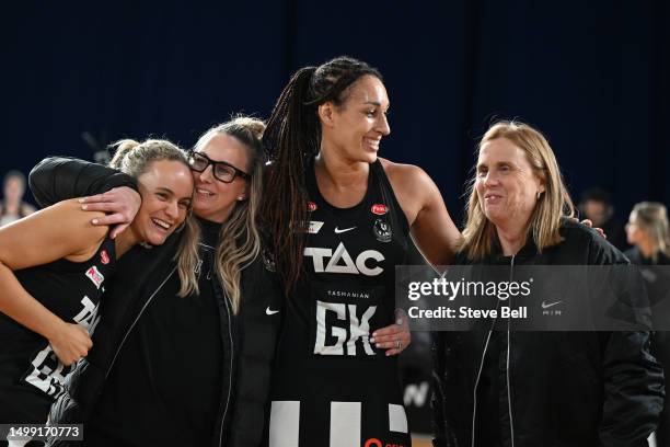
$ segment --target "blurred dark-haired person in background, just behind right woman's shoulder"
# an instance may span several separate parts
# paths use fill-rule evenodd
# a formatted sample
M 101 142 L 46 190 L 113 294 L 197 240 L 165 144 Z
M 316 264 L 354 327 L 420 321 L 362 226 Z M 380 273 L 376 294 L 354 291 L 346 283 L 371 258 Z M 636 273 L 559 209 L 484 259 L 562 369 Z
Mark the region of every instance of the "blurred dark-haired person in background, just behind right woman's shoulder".
M 579 211 L 582 218 L 593 222 L 593 227 L 602 228 L 612 245 L 621 251 L 628 248 L 623 224 L 614 217 L 614 206 L 609 192 L 601 187 L 585 191 L 579 202 Z

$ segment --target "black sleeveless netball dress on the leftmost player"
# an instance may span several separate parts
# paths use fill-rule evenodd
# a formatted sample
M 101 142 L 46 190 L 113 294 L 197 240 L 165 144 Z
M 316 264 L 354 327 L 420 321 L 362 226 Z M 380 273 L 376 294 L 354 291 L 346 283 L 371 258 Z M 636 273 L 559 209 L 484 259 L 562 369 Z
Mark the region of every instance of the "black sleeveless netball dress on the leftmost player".
M 93 333 L 100 297 L 115 270 L 114 241 L 106 238 L 85 262 L 61 259 L 14 274 L 47 309 Z M 0 423 L 45 423 L 74 364 L 61 364 L 46 339 L 3 313 L 0 341 Z

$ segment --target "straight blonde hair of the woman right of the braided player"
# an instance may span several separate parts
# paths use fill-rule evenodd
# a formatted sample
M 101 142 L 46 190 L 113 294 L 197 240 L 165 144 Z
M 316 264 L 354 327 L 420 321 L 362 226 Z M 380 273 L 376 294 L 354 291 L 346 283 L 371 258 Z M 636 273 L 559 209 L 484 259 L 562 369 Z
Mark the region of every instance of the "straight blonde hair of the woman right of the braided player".
M 506 138 L 523 150 L 533 172 L 544 181 L 545 192 L 538 199 L 530 221 L 532 238 L 538 250 L 542 252 L 558 244 L 563 240 L 559 233 L 561 218 L 574 216 L 575 206 L 548 141 L 544 135 L 528 124 L 501 121 L 490 126 L 484 134 L 477 154 L 485 144 L 498 138 Z M 496 231 L 494 224 L 484 214 L 475 182 L 476 172 L 467 190 L 470 200 L 460 249 L 465 252 L 469 260 L 481 261 L 492 253 Z

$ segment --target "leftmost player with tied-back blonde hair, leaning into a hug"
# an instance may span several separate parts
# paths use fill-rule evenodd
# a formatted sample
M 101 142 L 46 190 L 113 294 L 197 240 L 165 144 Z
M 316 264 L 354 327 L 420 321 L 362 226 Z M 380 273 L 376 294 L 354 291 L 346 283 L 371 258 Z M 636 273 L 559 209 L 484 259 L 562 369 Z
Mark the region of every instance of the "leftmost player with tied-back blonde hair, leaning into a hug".
M 112 240 L 77 199 L 0 229 L 0 423 L 45 423 L 91 348 L 117 260 L 183 227 L 193 195 L 185 153 L 164 140 L 119 141 L 112 165 L 136 179 L 142 206 Z M 186 275 L 185 282 L 188 282 Z M 111 280 L 112 279 L 112 280 Z M 124 278 L 125 279 L 125 278 Z

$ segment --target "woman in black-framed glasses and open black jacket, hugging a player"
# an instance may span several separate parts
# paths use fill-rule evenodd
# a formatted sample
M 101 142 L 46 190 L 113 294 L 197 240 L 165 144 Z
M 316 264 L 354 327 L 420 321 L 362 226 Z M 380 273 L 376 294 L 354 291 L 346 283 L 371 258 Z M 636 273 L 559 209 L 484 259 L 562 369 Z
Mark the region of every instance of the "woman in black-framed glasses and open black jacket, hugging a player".
M 236 117 L 206 131 L 188 154 L 195 194 L 186 237 L 120 263 L 128 280 L 107 291 L 113 305 L 103 309 L 94 347 L 50 414 L 83 423 L 83 445 L 258 445 L 281 291 L 256 222 L 264 128 Z M 86 206 L 109 211 L 128 207 L 117 202 L 119 190 L 103 193 L 123 181 L 112 182 L 115 175 L 58 159 L 31 181 L 36 197 L 48 199 L 48 185 L 66 194 L 63 176 L 78 177 L 69 193 L 102 193 Z M 194 272 L 184 296 L 180 276 Z

